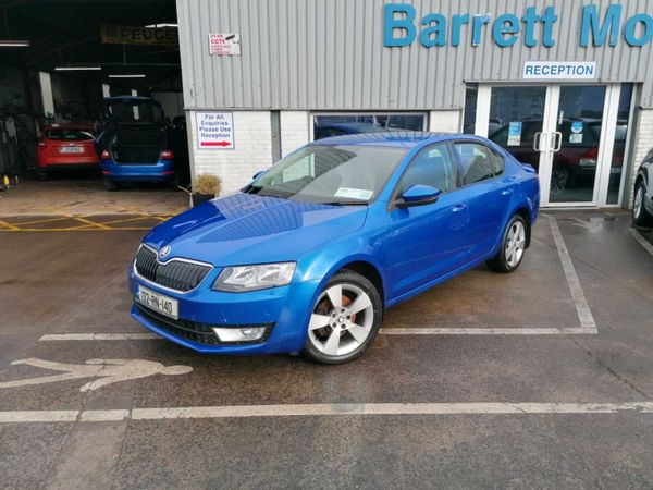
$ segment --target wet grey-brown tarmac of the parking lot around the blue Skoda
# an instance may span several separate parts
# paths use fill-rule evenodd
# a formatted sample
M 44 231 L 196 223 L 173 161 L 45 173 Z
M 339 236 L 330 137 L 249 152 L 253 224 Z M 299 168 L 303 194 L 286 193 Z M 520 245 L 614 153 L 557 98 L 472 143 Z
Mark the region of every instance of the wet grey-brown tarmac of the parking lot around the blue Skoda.
M 651 409 L 465 413 L 482 403 L 653 402 L 653 256 L 629 232 L 625 212 L 551 215 L 595 330 L 532 334 L 580 327 L 578 297 L 541 219 L 516 273 L 479 267 L 397 306 L 364 357 L 332 367 L 292 356 L 206 356 L 152 339 L 39 340 L 144 332 L 128 317 L 125 284 L 144 232 L 0 232 L 0 249 L 11 258 L 0 273 L 0 486 L 651 488 Z M 393 334 L 438 328 L 465 330 Z M 473 333 L 497 328 L 503 333 Z M 193 371 L 85 392 L 89 379 L 2 388 L 56 373 L 12 365 L 34 358 L 147 359 Z M 391 415 L 365 415 L 364 403 L 442 404 L 451 413 L 416 415 L 393 405 Z M 357 415 L 214 415 L 220 407 L 283 412 L 295 404 Z M 213 415 L 156 415 L 174 407 L 210 407 Z M 136 419 L 139 408 L 155 408 L 155 416 Z M 72 419 L 29 421 L 61 414 L 54 411 L 73 411 Z M 83 420 L 98 414 L 103 421 Z M 107 420 L 111 414 L 119 415 Z

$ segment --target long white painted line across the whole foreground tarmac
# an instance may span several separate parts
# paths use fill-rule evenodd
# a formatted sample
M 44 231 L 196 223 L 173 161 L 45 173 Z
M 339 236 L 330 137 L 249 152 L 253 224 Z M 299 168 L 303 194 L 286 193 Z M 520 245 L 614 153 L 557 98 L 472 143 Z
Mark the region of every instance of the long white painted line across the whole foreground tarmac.
M 653 402 L 629 403 L 341 403 L 226 405 L 169 408 L 0 412 L 0 424 L 58 421 L 180 420 L 197 418 L 316 417 L 368 415 L 653 414 Z

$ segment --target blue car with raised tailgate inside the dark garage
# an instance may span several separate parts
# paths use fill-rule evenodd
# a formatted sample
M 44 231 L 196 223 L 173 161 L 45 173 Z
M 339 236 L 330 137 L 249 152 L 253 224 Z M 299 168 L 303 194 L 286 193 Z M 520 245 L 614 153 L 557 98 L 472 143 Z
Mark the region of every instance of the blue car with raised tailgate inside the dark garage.
M 165 124 L 161 105 L 149 97 L 104 99 L 108 124 L 96 142 L 104 185 L 116 191 L 125 182 L 185 184 L 188 167 L 183 138 Z

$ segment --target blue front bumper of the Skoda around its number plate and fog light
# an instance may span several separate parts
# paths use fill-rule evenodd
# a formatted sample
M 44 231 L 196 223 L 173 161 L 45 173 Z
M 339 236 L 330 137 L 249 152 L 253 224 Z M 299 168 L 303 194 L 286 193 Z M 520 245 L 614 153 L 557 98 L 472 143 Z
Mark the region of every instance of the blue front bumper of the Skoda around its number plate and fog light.
M 303 348 L 319 281 L 293 282 L 287 286 L 247 293 L 223 293 L 211 290 L 219 273 L 217 268 L 196 290 L 176 293 L 136 275 L 132 268 L 132 295 L 136 295 L 137 285 L 141 284 L 177 299 L 180 320 L 157 315 L 136 301 L 132 318 L 152 332 L 201 353 L 273 354 Z M 220 343 L 211 329 L 245 326 L 267 326 L 267 335 L 251 343 Z

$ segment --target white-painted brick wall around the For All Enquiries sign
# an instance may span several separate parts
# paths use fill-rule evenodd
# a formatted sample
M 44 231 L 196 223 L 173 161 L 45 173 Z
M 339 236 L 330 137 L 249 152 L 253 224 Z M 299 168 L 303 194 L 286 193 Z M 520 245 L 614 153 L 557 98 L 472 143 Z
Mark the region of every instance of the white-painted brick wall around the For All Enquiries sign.
M 272 127 L 269 111 L 234 111 L 234 149 L 199 149 L 195 112 L 188 111 L 194 175 L 211 173 L 222 180 L 227 194 L 247 184 L 272 163 Z

